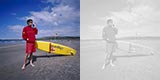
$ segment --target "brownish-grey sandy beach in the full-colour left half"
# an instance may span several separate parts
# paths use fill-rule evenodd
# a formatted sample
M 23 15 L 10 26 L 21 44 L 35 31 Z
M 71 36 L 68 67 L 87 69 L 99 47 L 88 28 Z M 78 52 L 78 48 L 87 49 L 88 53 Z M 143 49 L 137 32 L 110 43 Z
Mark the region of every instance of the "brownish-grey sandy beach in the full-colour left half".
M 34 54 L 35 67 L 27 65 L 21 70 L 25 44 L 0 45 L 1 80 L 80 80 L 80 42 L 64 40 L 58 43 L 77 50 L 75 56 L 60 56 L 37 50 Z

